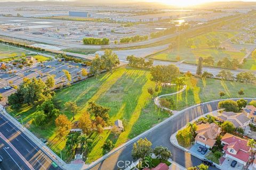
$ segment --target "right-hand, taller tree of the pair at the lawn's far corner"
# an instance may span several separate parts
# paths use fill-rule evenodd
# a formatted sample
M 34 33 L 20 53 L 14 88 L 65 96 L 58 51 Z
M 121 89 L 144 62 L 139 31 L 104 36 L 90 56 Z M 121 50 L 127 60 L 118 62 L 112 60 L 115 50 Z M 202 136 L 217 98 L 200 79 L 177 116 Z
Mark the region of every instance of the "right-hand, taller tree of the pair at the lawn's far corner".
M 118 56 L 111 49 L 105 50 L 105 53 L 101 56 L 101 60 L 103 67 L 107 71 L 110 71 L 111 74 L 113 73 L 113 69 L 120 64 Z

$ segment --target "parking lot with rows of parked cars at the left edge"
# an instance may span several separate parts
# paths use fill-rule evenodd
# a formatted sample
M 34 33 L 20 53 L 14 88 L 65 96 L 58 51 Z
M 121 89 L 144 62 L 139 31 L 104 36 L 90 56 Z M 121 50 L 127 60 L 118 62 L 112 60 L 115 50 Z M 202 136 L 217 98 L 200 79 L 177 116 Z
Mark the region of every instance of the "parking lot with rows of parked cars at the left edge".
M 19 86 L 19 84 L 23 81 L 23 78 L 41 78 L 43 81 L 46 80 L 47 75 L 55 75 L 55 84 L 66 81 L 66 75 L 62 70 L 68 70 L 71 74 L 72 81 L 77 80 L 77 73 L 81 72 L 81 69 L 87 69 L 89 72 L 89 67 L 82 66 L 79 63 L 74 62 L 66 62 L 58 60 L 37 63 L 31 67 L 25 67 L 23 69 L 17 70 L 15 74 L 7 74 L 6 72 L 0 73 L 0 93 L 4 96 L 10 96 L 14 89 L 4 89 L 6 86 Z M 12 82 L 10 84 L 10 82 Z

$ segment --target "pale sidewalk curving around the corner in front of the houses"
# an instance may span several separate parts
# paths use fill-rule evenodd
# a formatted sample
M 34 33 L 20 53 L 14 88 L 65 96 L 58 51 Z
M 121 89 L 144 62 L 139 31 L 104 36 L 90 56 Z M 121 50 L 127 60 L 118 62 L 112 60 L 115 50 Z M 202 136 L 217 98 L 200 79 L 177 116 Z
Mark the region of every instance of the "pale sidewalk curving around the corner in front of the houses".
M 202 116 L 199 116 L 199 117 L 195 118 L 194 120 L 192 120 L 192 121 L 190 121 L 190 122 L 193 123 L 193 122 L 197 121 L 197 120 L 198 120 L 199 118 L 201 118 L 201 117 L 205 117 L 206 115 L 209 115 L 209 114 L 212 115 L 212 114 L 217 113 L 218 111 L 222 111 L 222 110 L 223 110 L 223 109 L 218 109 L 218 110 L 216 110 L 216 111 L 212 111 L 212 112 L 203 114 Z M 183 126 L 183 128 L 181 128 L 180 130 L 185 129 L 185 128 L 186 128 L 186 126 Z M 197 157 L 197 158 L 199 158 L 199 159 L 204 159 L 203 156 L 196 155 L 196 154 L 194 154 L 193 152 L 190 152 L 189 149 L 180 146 L 179 143 L 178 143 L 178 141 L 177 141 L 177 138 L 176 138 L 176 134 L 177 134 L 177 133 L 178 133 L 178 131 L 175 132 L 175 133 L 173 133 L 173 134 L 171 135 L 171 137 L 170 137 L 170 141 L 171 141 L 172 145 L 174 145 L 175 147 L 177 147 L 177 148 L 179 148 L 179 149 L 181 149 L 181 150 L 183 150 L 183 151 L 188 152 L 189 154 L 191 154 L 191 155 L 193 155 L 193 156 L 195 156 L 195 157 Z M 216 164 L 216 163 L 213 163 L 213 164 L 214 164 L 217 168 L 221 169 L 221 166 L 220 166 L 220 165 L 218 165 L 218 164 Z

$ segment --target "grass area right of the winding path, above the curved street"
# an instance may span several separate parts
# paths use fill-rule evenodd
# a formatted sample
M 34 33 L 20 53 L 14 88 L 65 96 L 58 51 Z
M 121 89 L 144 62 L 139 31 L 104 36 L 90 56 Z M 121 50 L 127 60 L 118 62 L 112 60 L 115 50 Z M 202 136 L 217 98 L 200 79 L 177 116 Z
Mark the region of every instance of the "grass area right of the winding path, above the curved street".
M 186 91 L 180 94 L 179 102 L 178 95 L 166 97 L 172 98 L 175 101 L 176 106 L 171 109 L 181 110 L 202 102 L 217 100 L 220 98 L 219 91 L 224 91 L 226 93 L 226 96 L 223 96 L 222 98 L 243 97 L 238 95 L 240 89 L 244 89 L 244 97 L 256 96 L 256 90 L 252 88 L 255 85 L 250 83 L 246 84 L 235 81 L 199 78 L 187 78 L 186 83 L 188 87 Z

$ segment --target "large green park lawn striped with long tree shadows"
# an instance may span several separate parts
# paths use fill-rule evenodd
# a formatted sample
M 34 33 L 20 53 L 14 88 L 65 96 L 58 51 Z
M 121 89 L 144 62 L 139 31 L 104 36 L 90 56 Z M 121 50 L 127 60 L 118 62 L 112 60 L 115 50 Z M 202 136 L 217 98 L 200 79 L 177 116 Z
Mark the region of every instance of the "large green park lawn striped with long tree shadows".
M 109 131 L 104 131 L 100 135 L 96 133 L 92 135 L 93 150 L 89 154 L 87 162 L 92 162 L 103 155 L 101 147 L 105 140 L 112 139 L 117 147 L 169 117 L 167 112 L 162 112 L 154 105 L 153 99 L 148 94 L 147 89 L 155 87 L 155 83 L 149 78 L 149 71 L 129 67 L 120 68 L 113 74 L 100 75 L 98 80 L 91 78 L 56 92 L 55 98 L 61 100 L 62 107 L 66 101 L 76 101 L 81 113 L 83 113 L 86 111 L 87 101 L 94 100 L 98 104 L 111 108 L 109 115 L 112 123 L 117 119 L 123 121 L 125 131 L 118 138 L 114 138 Z M 169 92 L 169 90 L 174 91 L 175 88 L 163 90 Z M 51 148 L 57 154 L 63 150 L 62 157 L 67 158 L 65 141 L 54 139 L 54 120 L 49 122 L 47 128 L 38 131 L 38 128 L 31 124 L 35 108 L 24 105 L 20 111 L 12 111 L 10 108 L 8 111 L 14 117 L 21 117 L 28 129 L 37 137 L 48 139 L 53 143 L 56 142 Z M 61 113 L 66 114 L 71 120 L 69 112 L 62 109 Z M 81 113 L 75 116 L 76 120 L 81 116 Z

